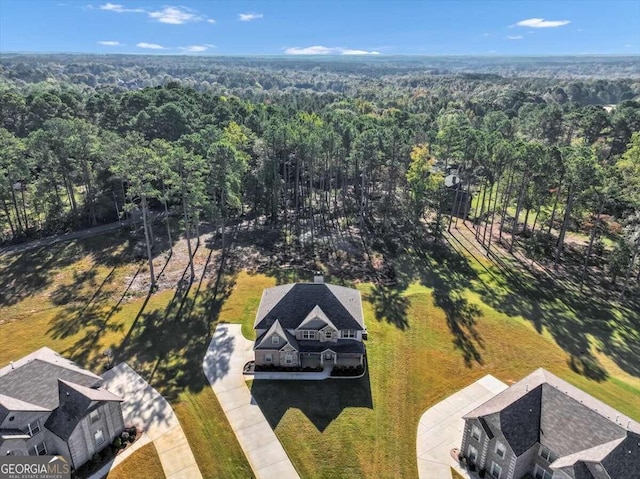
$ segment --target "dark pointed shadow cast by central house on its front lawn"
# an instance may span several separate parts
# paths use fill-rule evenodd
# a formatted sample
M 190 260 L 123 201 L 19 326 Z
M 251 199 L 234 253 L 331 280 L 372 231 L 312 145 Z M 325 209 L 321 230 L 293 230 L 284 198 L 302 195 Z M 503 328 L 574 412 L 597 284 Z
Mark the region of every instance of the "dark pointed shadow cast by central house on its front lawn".
M 268 381 L 256 379 L 251 386 L 255 401 L 272 429 L 289 409 L 298 409 L 323 432 L 349 408 L 373 409 L 369 372 L 359 379 L 324 381 Z

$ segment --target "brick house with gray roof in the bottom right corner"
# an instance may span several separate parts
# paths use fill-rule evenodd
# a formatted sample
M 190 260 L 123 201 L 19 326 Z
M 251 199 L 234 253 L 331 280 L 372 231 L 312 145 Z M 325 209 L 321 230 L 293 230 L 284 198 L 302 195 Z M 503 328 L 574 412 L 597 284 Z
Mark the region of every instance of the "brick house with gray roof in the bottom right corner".
M 640 424 L 544 369 L 464 420 L 462 453 L 486 477 L 640 478 Z

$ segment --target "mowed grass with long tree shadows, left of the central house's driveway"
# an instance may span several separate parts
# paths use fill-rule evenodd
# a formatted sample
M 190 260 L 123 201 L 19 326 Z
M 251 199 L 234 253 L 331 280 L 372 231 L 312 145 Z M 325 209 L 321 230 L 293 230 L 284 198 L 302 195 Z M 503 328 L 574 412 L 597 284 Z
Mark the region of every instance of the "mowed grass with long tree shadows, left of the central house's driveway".
M 104 249 L 115 256 L 126 248 L 119 238 L 97 237 L 0 257 L 0 282 L 15 286 L 0 297 L 0 366 L 47 346 L 101 373 L 103 353 L 111 349 L 115 363 L 126 361 L 171 400 L 204 477 L 253 477 L 201 368 L 217 320 L 215 312 L 208 314 L 211 304 L 204 303 L 215 302 L 204 294 L 196 298 L 194 284 L 184 301 L 168 290 L 152 295 L 145 305 L 146 297 L 128 288 L 136 272 L 148 274 L 141 263 L 123 258 L 105 264 L 107 256 L 94 254 Z M 21 271 L 37 264 L 44 265 L 37 278 L 25 277 L 24 284 Z M 184 321 L 177 321 L 177 315 Z M 112 474 L 164 477 L 161 468 L 158 476 L 154 469 L 149 469 L 152 475 L 138 469 L 143 456 L 136 453 Z

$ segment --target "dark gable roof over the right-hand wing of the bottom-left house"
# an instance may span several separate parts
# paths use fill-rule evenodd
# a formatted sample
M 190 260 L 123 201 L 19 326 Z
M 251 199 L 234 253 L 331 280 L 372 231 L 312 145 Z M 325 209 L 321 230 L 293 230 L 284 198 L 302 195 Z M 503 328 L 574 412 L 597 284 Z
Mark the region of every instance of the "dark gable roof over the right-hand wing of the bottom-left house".
M 45 427 L 56 436 L 69 439 L 78 423 L 103 402 L 122 402 L 106 389 L 92 389 L 69 381 L 58 381 L 60 406 L 51 413 Z

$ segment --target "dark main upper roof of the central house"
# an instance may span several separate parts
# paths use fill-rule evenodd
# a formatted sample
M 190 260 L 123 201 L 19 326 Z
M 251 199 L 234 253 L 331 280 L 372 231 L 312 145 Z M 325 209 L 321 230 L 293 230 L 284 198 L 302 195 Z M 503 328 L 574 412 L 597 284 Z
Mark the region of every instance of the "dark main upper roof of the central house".
M 269 329 L 279 320 L 283 328 L 297 329 L 316 306 L 337 329 L 364 329 L 360 292 L 325 283 L 295 283 L 265 289 L 253 327 Z

